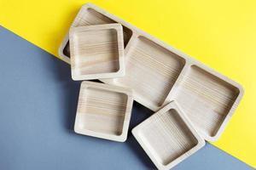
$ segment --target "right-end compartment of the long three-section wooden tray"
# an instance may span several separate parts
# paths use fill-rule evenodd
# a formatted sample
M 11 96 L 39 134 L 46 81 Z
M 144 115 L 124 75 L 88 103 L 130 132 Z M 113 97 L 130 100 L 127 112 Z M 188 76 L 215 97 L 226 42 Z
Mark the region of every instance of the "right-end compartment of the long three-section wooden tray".
M 173 97 L 206 139 L 214 140 L 239 90 L 200 67 L 191 66 Z

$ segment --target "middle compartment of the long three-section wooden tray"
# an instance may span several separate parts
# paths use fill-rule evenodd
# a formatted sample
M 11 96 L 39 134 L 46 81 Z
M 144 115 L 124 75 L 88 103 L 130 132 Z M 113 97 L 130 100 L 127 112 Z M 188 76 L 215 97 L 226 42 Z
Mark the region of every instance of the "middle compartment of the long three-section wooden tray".
M 128 71 L 125 77 L 115 79 L 116 83 L 134 89 L 144 105 L 160 107 L 183 69 L 184 59 L 146 37 L 136 38 L 127 52 L 125 70 Z

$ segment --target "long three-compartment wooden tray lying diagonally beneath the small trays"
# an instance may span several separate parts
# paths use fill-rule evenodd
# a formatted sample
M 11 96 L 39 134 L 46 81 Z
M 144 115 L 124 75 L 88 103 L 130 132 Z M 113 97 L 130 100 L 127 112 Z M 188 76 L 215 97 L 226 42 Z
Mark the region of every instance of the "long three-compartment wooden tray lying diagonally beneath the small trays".
M 241 100 L 241 86 L 93 4 L 81 8 L 72 27 L 115 22 L 124 28 L 125 77 L 101 81 L 132 88 L 134 99 L 152 111 L 177 100 L 204 139 L 218 139 Z M 68 37 L 59 52 L 69 60 Z

